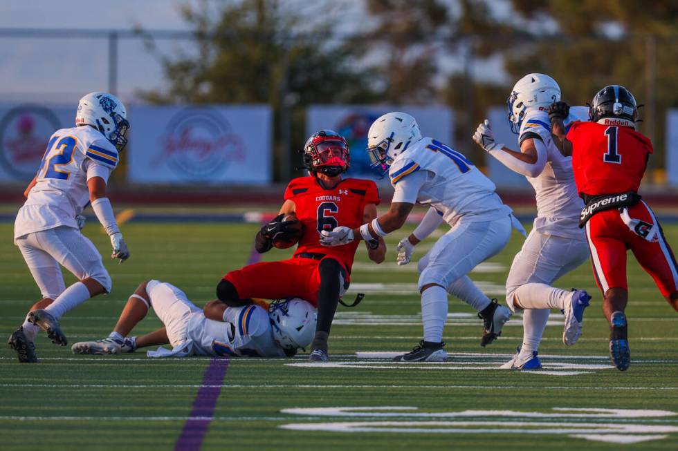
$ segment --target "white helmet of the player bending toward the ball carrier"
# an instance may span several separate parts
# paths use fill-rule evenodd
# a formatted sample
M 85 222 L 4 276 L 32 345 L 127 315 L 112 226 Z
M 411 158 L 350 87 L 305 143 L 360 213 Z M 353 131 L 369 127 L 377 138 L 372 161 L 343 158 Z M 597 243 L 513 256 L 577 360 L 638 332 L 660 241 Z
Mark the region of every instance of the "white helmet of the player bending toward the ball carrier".
M 369 166 L 383 177 L 398 155 L 421 140 L 414 117 L 407 113 L 386 113 L 374 121 L 367 132 Z

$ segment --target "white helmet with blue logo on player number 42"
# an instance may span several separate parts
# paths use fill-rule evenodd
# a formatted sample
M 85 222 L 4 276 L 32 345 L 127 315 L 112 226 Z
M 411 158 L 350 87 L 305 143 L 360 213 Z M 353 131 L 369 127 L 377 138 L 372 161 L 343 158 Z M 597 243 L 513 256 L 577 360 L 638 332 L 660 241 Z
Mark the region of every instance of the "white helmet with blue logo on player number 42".
M 109 93 L 89 93 L 80 99 L 75 125 L 91 125 L 122 151 L 127 144 L 127 110 L 120 99 Z

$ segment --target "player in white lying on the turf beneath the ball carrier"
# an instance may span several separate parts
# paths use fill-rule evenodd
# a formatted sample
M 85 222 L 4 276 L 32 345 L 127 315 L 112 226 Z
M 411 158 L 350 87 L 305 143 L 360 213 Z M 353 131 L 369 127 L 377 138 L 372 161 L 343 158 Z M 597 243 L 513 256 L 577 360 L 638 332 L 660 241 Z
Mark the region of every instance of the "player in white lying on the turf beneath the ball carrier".
M 131 330 L 153 308 L 163 329 L 138 337 Z M 74 354 L 120 354 L 140 347 L 172 345 L 149 351 L 149 357 L 293 356 L 311 344 L 315 309 L 305 300 L 274 301 L 268 312 L 261 305 L 228 307 L 219 300 L 196 307 L 181 289 L 147 280 L 129 296 L 113 332 L 102 340 L 75 343 Z

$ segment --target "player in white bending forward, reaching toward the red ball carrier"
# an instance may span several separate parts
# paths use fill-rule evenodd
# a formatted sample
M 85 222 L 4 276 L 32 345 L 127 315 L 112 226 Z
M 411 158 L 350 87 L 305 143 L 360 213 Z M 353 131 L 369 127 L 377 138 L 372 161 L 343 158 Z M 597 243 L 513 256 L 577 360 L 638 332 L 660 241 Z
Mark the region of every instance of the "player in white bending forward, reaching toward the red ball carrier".
M 522 230 L 520 223 L 495 193 L 495 185 L 458 151 L 422 137 L 414 117 L 387 113 L 369 128 L 367 140 L 372 166 L 382 175 L 388 173 L 395 189 L 390 210 L 358 229 L 322 231 L 322 244 L 386 236 L 405 224 L 416 202 L 429 205 L 419 227 L 398 244 L 398 262 L 409 262 L 414 246 L 442 222 L 451 229 L 419 261 L 423 340 L 396 361 L 445 360 L 448 293 L 479 312 L 484 320 L 481 345 L 488 345 L 501 334 L 511 311 L 491 301 L 466 274 L 504 249 L 512 227 Z

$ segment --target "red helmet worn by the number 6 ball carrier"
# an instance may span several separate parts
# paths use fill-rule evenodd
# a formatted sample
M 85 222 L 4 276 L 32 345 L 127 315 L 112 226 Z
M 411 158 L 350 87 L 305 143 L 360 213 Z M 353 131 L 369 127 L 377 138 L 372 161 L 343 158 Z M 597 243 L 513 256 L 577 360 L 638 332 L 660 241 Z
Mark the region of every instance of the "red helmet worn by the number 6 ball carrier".
M 313 133 L 304 145 L 304 166 L 311 172 L 335 177 L 349 169 L 349 145 L 344 137 L 331 130 Z

